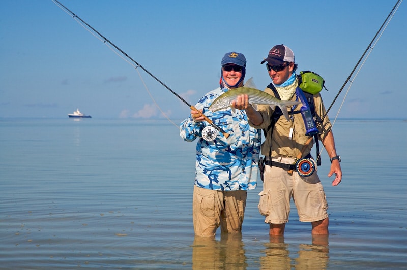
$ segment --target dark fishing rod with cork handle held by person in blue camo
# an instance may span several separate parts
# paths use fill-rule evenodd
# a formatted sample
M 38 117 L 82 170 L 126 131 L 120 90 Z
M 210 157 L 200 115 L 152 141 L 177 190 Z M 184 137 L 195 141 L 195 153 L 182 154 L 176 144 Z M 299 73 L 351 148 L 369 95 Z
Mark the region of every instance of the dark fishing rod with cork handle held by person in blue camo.
M 72 15 L 72 18 L 77 18 L 78 20 L 80 20 L 82 23 L 84 23 L 86 26 L 88 26 L 90 29 L 92 29 L 92 31 L 94 31 L 95 33 L 97 33 L 97 35 L 99 37 L 101 37 L 104 40 L 104 43 L 109 43 L 111 46 L 113 46 L 115 49 L 117 49 L 119 52 L 121 52 L 124 56 L 126 56 L 128 59 L 130 59 L 130 61 L 132 61 L 133 63 L 135 63 L 136 69 L 137 67 L 140 67 L 140 69 L 142 69 L 143 71 L 147 72 L 147 74 L 149 74 L 151 77 L 153 77 L 157 82 L 159 82 L 160 84 L 162 84 L 165 88 L 167 88 L 171 93 L 175 94 L 179 99 L 182 100 L 182 102 L 184 102 L 186 105 L 189 106 L 189 108 L 191 110 L 197 111 L 198 114 L 200 114 L 200 116 L 203 116 L 203 118 L 205 119 L 205 121 L 207 121 L 211 126 L 213 126 L 216 130 L 218 130 L 219 132 L 221 132 L 223 134 L 223 136 L 225 138 L 229 138 L 229 134 L 226 133 L 226 131 L 224 131 L 222 128 L 218 127 L 216 124 L 214 124 L 212 122 L 211 119 L 209 119 L 206 115 L 204 115 L 203 113 L 201 113 L 198 109 L 195 108 L 195 106 L 189 104 L 184 98 L 182 98 L 179 94 L 177 94 L 175 91 L 173 91 L 171 88 L 169 88 L 166 84 L 164 84 L 162 81 L 160 81 L 156 76 L 154 76 L 152 73 L 150 73 L 148 70 L 146 70 L 142 65 L 140 65 L 139 63 L 137 63 L 133 58 L 131 58 L 127 53 L 125 53 L 122 49 L 120 49 L 118 46 L 114 45 L 111 41 L 109 41 L 108 39 L 106 39 L 100 32 L 98 32 L 95 28 L 93 28 L 91 25 L 89 25 L 88 23 L 86 23 L 84 20 L 82 20 L 81 18 L 79 18 L 75 13 L 73 13 L 71 10 L 69 10 L 67 7 L 65 7 L 63 4 L 61 4 L 58 0 L 52 0 L 55 4 L 57 4 L 58 6 L 62 7 L 64 10 L 66 10 L 67 12 L 69 12 Z

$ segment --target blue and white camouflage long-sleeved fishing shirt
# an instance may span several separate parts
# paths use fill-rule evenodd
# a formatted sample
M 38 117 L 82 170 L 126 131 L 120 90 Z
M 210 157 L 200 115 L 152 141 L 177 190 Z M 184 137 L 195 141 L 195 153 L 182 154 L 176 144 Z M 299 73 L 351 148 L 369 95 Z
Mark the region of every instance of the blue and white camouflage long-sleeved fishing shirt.
M 180 136 L 185 141 L 198 139 L 195 185 L 224 191 L 254 189 L 257 185 L 261 130 L 248 124 L 245 110 L 232 110 L 229 107 L 211 112 L 208 107 L 222 93 L 224 91 L 220 88 L 207 93 L 195 108 L 203 109 L 203 114 L 226 131 L 229 138 L 218 132 L 214 141 L 204 140 L 202 129 L 209 123 L 197 123 L 192 116 L 180 126 Z

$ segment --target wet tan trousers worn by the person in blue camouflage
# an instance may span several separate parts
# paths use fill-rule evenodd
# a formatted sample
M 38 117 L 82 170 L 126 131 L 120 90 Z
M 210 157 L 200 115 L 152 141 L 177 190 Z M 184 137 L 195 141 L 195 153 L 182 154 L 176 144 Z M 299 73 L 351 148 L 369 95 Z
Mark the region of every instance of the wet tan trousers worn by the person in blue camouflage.
M 221 191 L 194 186 L 195 235 L 212 237 L 219 226 L 222 232 L 241 232 L 246 198 L 246 190 Z

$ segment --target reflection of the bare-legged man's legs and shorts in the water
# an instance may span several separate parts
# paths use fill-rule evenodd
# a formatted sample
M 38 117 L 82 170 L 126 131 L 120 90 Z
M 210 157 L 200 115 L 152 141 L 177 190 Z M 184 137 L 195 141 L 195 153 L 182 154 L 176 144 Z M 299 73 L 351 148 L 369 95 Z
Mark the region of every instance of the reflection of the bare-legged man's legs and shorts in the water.
M 312 237 L 312 244 L 300 244 L 297 254 L 289 256 L 284 237 L 270 237 L 265 244 L 265 256 L 260 257 L 261 269 L 326 269 L 329 261 L 328 235 Z

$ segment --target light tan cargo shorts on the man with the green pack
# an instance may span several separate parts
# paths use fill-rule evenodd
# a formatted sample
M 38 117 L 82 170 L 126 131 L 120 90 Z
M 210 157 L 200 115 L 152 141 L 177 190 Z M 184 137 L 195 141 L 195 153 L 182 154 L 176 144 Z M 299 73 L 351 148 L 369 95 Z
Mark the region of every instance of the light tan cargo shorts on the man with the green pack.
M 279 162 L 290 163 L 289 160 Z M 266 223 L 287 223 L 291 198 L 297 207 L 300 221 L 313 222 L 328 217 L 324 188 L 316 171 L 309 177 L 312 177 L 312 183 L 305 182 L 297 172 L 289 175 L 282 168 L 265 166 L 258 210 L 266 217 Z

